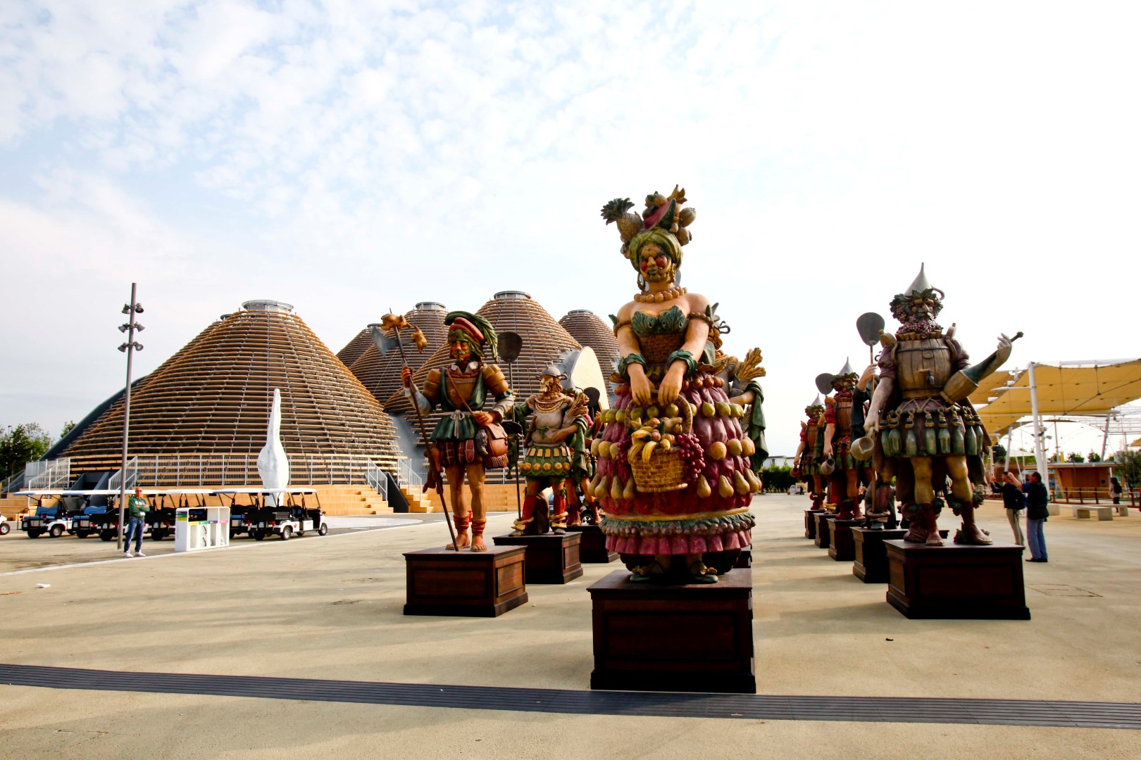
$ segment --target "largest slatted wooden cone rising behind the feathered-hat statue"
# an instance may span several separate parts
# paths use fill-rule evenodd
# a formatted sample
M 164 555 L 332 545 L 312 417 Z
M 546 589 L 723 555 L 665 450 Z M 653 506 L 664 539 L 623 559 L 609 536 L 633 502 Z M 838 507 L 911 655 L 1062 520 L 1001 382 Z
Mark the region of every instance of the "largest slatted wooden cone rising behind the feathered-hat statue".
M 532 393 L 539 392 L 539 375 L 543 369 L 556 361 L 560 354 L 567 351 L 581 349 L 574 337 L 570 336 L 563 326 L 555 321 L 545 309 L 529 294 L 521 291 L 503 291 L 485 303 L 479 311 L 492 324 L 496 333 L 518 333 L 523 338 L 523 350 L 519 358 L 510 367 L 510 377 L 515 397 L 518 400 L 526 399 Z M 491 357 L 487 357 L 491 361 Z M 442 345 L 439 349 L 421 365 L 420 369 L 412 376 L 418 387 L 423 387 L 424 378 L 430 369 L 445 367 L 451 362 L 450 346 Z M 501 361 L 500 367 L 503 374 L 508 374 L 507 362 Z M 487 397 L 485 407 L 493 404 L 491 395 Z M 404 395 L 403 389 L 398 390 L 385 404 L 393 414 L 402 414 L 415 424 L 415 414 L 412 404 Z M 430 432 L 436 422 L 442 417 L 440 412 L 434 412 L 431 419 L 424 418 L 424 423 Z M 420 431 L 416 431 L 419 433 Z

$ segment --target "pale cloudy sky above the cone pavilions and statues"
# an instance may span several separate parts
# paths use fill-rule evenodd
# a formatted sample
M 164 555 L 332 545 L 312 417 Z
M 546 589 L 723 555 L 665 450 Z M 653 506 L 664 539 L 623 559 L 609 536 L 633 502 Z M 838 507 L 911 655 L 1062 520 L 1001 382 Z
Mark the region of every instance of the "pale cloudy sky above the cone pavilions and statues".
M 0 3 L 0 423 L 58 431 L 272 297 L 333 350 L 499 289 L 634 292 L 616 196 L 764 352 L 770 448 L 925 261 L 976 356 L 1141 356 L 1134 2 Z M 861 359 L 863 358 L 863 359 Z

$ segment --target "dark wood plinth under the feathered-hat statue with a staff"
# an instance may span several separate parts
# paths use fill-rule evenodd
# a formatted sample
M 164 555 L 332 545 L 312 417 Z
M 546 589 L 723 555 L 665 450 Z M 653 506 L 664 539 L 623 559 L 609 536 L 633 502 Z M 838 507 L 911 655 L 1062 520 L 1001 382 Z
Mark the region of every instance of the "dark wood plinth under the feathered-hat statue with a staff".
M 406 615 L 497 618 L 527 600 L 523 547 L 404 553 Z

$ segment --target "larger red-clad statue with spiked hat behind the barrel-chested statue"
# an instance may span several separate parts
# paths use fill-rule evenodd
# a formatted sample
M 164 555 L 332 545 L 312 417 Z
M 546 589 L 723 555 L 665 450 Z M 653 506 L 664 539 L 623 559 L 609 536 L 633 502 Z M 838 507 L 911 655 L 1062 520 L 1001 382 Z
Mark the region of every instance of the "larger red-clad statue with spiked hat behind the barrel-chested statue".
M 859 518 L 859 487 L 867 485 L 872 480 L 871 469 L 851 455 L 856 377 L 851 362 L 844 361 L 840 374 L 832 376 L 834 394 L 824 400 L 823 453 L 832 467 L 832 472 L 826 473 L 828 501 L 842 520 Z

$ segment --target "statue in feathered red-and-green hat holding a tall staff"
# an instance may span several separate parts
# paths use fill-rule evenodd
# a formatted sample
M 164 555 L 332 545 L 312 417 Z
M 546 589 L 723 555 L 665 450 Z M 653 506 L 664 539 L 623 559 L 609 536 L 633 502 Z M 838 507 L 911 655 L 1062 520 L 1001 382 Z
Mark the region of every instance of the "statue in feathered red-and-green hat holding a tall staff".
M 429 414 L 437 404 L 447 412 L 428 436 L 428 455 L 444 469 L 452 496 L 456 537 L 455 545 L 448 548 L 469 545 L 470 524 L 471 550 L 486 551 L 484 477 L 487 469 L 507 464 L 507 435 L 499 423 L 511 411 L 515 399 L 503 371 L 485 361 L 485 350 L 493 361 L 497 360 L 497 340 L 491 322 L 478 314 L 453 311 L 444 318 L 444 325 L 448 327 L 452 363 L 430 370 L 422 391 L 412 384 L 408 367 L 400 370 L 400 377 L 405 393 L 421 414 Z M 484 411 L 488 395 L 494 403 Z M 464 475 L 471 491 L 470 513 L 463 502 Z

